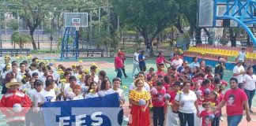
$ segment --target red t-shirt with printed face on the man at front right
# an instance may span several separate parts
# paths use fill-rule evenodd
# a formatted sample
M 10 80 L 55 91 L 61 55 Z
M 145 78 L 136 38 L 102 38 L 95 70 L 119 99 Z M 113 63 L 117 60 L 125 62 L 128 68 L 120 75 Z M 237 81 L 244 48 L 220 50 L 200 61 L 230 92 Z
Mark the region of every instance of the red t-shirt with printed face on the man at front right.
M 243 90 L 237 88 L 235 90 L 229 89 L 225 95 L 224 100 L 227 102 L 228 116 L 236 116 L 243 114 L 243 102 L 247 101 L 247 95 Z

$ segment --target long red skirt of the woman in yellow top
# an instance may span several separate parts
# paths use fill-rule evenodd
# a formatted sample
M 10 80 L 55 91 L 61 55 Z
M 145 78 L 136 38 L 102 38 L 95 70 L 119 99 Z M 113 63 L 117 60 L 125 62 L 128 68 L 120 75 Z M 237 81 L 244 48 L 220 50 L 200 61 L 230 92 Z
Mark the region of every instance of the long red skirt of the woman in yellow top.
M 142 106 L 132 106 L 130 110 L 129 117 L 129 126 L 149 126 L 149 108 L 145 109 L 145 112 L 142 112 Z

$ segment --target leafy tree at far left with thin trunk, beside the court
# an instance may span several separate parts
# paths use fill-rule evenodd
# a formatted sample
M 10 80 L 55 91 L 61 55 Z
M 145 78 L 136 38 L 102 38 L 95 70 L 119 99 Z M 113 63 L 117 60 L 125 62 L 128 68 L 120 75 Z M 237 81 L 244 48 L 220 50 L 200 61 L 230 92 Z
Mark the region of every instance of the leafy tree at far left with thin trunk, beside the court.
M 19 16 L 28 24 L 29 35 L 32 39 L 32 46 L 37 50 L 36 42 L 33 37 L 34 31 L 47 17 L 50 11 L 53 11 L 53 0 L 2 0 L 6 3 L 6 9 L 10 13 L 19 12 Z

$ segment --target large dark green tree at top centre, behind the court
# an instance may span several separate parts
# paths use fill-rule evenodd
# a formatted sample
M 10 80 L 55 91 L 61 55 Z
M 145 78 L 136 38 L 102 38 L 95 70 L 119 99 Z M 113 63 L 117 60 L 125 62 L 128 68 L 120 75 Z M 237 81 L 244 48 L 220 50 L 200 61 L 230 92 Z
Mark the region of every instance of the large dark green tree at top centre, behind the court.
M 178 15 L 176 1 L 179 0 L 111 0 L 111 3 L 121 22 L 137 28 L 145 45 L 151 46 L 156 36 Z M 152 52 L 152 47 L 150 49 Z

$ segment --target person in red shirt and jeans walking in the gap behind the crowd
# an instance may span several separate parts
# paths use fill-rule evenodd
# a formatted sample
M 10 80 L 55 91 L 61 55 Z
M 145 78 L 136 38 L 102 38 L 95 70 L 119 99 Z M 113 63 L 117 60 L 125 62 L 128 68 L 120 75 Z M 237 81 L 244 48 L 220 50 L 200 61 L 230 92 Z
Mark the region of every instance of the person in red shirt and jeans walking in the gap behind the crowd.
M 122 67 L 123 67 L 122 53 L 119 52 L 118 56 L 115 57 L 115 72 L 117 72 L 116 77 L 119 77 L 120 79 L 122 79 Z

